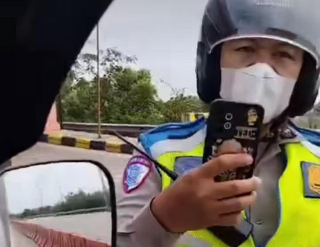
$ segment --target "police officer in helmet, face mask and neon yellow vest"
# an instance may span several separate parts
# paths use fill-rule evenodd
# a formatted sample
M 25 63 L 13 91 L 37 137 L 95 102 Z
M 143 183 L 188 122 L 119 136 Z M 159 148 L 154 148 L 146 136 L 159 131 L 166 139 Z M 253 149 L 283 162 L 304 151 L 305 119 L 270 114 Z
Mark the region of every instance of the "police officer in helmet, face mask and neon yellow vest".
M 204 119 L 142 134 L 141 148 L 179 178 L 142 155 L 129 160 L 118 197 L 119 247 L 228 246 L 206 228 L 237 228 L 245 218 L 252 229 L 237 246 L 320 246 L 320 137 L 288 121 L 317 95 L 319 7 L 318 0 L 209 0 L 198 94 L 207 103 L 221 97 L 264 107 L 254 176 L 212 179 L 252 157 L 224 154 L 202 164 Z

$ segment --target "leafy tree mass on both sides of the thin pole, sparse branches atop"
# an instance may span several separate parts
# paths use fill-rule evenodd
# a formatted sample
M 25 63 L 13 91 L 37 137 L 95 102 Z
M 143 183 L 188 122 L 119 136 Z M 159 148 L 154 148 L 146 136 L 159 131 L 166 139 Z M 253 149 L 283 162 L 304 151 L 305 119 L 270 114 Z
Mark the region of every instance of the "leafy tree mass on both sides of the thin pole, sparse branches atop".
M 101 117 L 109 123 L 151 123 L 163 121 L 157 104 L 157 91 L 148 70 L 135 70 L 125 65 L 136 61 L 115 49 L 101 51 Z M 72 67 L 60 97 L 64 121 L 96 122 L 97 78 L 96 56 L 80 54 Z M 83 72 L 85 71 L 85 72 Z

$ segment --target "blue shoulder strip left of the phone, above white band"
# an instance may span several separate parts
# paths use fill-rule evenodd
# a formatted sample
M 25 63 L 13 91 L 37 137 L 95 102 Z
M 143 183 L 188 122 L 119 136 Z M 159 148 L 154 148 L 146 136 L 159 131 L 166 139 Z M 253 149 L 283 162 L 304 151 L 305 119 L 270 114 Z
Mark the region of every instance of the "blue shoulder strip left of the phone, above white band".
M 150 154 L 150 146 L 154 143 L 165 139 L 185 139 L 199 131 L 205 124 L 206 119 L 204 117 L 194 122 L 162 124 L 140 134 L 139 142 L 144 150 Z

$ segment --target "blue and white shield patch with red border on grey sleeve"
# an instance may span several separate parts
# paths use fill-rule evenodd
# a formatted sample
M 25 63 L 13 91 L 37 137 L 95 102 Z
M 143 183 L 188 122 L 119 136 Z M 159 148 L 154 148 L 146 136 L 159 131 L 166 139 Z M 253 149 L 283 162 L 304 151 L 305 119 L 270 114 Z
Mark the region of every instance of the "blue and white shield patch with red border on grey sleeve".
M 130 158 L 123 174 L 123 190 L 130 193 L 137 189 L 148 176 L 152 163 L 142 155 L 136 155 Z

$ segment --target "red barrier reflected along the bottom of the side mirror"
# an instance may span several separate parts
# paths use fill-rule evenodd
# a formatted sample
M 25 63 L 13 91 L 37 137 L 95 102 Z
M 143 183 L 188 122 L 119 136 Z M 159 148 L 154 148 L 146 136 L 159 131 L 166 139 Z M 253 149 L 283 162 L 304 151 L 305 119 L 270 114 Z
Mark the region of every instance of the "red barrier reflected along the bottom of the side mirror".
M 33 240 L 39 247 L 111 247 L 110 245 L 86 237 L 48 229 L 38 224 L 11 220 L 17 231 Z

